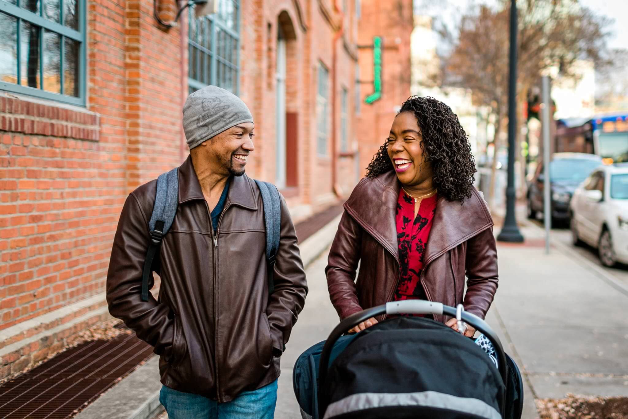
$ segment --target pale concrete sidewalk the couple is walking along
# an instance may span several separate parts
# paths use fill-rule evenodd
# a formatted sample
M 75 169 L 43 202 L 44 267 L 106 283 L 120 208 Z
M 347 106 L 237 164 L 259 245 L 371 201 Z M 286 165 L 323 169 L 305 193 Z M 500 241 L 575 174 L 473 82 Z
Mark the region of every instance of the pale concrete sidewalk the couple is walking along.
M 562 398 L 566 393 L 628 395 L 628 290 L 620 292 L 569 249 L 553 247 L 546 256 L 543 230 L 519 215 L 526 242 L 498 243 L 500 283 L 487 321 L 524 374 L 523 418 L 538 417 L 535 398 Z M 338 219 L 333 220 L 301 244 L 302 254 L 311 261 L 306 269 L 310 293 L 282 357 L 276 419 L 300 419 L 292 367 L 301 352 L 327 339 L 338 322 L 324 273 L 327 246 L 337 224 Z M 495 234 L 500 228 L 498 222 Z M 146 394 L 158 389 L 156 368 L 149 364 L 134 373 L 143 368 L 144 381 L 132 374 L 77 418 L 102 417 L 100 408 L 111 400 L 124 405 L 129 399 L 124 397 L 126 388 L 144 385 Z M 146 383 L 149 377 L 153 382 Z M 154 403 L 154 398 L 147 398 L 126 416 L 116 417 L 150 418 L 148 412 L 159 408 Z M 88 416 L 90 410 L 101 416 Z

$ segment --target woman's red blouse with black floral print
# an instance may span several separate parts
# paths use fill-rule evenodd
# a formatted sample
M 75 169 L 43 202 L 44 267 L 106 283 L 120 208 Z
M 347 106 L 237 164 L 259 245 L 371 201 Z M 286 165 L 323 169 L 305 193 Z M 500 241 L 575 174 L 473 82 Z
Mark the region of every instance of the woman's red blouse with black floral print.
M 394 301 L 426 299 L 420 278 L 423 253 L 430 236 L 435 210 L 436 195 L 421 200 L 421 206 L 414 218 L 414 199 L 403 189 L 399 192 L 396 222 L 401 275 Z

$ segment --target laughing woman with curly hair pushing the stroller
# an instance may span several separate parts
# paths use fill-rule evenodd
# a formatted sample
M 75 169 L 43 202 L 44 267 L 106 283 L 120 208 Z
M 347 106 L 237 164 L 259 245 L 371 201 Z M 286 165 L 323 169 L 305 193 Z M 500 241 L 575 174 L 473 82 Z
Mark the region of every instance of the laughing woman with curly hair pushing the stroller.
M 329 254 L 327 285 L 341 319 L 413 298 L 463 303 L 484 318 L 497 290 L 497 251 L 474 173 L 467 134 L 452 109 L 431 97 L 404 102 L 344 205 Z M 457 330 L 455 318 L 435 320 Z M 465 331 L 474 333 L 472 327 Z

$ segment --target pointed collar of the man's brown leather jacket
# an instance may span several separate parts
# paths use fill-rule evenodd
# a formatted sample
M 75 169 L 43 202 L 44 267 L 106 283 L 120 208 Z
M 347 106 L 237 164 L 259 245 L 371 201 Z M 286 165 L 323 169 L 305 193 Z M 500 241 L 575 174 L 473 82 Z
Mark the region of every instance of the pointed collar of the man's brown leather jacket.
M 179 166 L 179 204 L 192 200 L 205 200 L 203 190 L 200 188 L 196 171 L 192 163 L 192 156 Z M 231 205 L 257 210 L 257 199 L 253 191 L 253 183 L 247 175 L 234 176 L 229 182 L 227 201 Z

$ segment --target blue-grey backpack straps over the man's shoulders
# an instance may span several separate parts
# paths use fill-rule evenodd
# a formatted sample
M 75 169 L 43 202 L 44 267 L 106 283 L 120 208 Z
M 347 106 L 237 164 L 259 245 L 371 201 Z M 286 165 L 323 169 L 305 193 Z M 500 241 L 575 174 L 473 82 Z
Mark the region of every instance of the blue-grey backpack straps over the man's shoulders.
M 264 205 L 264 224 L 266 224 L 266 266 L 268 268 L 268 292 L 274 292 L 273 268 L 275 255 L 279 248 L 279 230 L 281 229 L 281 199 L 279 191 L 272 183 L 256 180 Z M 153 214 L 148 223 L 151 242 L 146 252 L 142 273 L 142 301 L 148 301 L 148 285 L 152 279 L 153 261 L 161 248 L 163 237 L 170 230 L 175 219 L 179 200 L 178 168 L 162 173 L 157 178 L 157 192 Z

